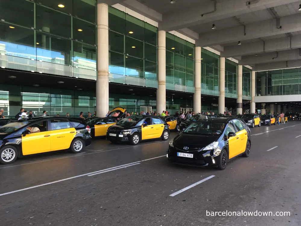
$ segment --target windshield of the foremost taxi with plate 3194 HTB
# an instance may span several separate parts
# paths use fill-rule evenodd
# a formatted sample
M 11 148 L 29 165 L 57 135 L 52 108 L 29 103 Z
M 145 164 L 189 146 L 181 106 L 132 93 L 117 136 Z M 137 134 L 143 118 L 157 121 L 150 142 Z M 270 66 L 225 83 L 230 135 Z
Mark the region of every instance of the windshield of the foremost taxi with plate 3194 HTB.
M 183 133 L 198 135 L 218 135 L 223 132 L 225 123 L 214 121 L 199 121 L 188 126 Z

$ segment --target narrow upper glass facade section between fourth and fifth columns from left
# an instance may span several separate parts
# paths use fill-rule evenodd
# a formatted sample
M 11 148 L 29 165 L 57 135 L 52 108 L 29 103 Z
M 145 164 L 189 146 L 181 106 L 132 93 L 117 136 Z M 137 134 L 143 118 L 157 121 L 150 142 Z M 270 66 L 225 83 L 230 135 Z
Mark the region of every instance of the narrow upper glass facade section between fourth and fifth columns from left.
M 238 64 L 225 59 L 225 97 L 237 98 Z

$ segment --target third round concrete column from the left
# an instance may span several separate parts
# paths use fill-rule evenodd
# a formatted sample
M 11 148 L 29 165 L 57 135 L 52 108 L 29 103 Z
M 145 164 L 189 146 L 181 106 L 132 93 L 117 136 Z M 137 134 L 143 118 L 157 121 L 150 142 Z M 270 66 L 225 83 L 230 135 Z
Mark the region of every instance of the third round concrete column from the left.
M 193 110 L 195 113 L 201 113 L 201 53 L 202 47 L 196 46 L 196 72 L 195 72 L 195 88 L 193 95 Z

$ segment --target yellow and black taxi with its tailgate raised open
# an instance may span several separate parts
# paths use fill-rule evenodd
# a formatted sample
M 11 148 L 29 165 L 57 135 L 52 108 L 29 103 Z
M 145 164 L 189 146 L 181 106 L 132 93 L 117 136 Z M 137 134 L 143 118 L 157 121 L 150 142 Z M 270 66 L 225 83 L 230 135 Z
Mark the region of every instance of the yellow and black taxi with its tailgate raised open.
M 126 109 L 123 107 L 115 107 L 107 117 L 91 117 L 85 119 L 86 123 L 91 128 L 92 138 L 105 136 L 108 128 L 116 124 L 118 120 L 123 117 L 122 115 L 125 111 Z

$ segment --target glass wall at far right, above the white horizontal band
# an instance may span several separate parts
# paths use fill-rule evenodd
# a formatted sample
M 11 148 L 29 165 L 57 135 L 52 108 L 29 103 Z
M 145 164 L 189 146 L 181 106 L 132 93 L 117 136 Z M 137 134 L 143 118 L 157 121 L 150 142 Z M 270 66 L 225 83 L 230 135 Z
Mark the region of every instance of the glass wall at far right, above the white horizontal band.
M 301 94 L 301 68 L 256 72 L 256 96 Z

